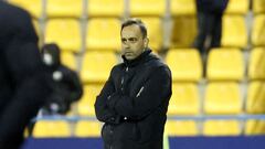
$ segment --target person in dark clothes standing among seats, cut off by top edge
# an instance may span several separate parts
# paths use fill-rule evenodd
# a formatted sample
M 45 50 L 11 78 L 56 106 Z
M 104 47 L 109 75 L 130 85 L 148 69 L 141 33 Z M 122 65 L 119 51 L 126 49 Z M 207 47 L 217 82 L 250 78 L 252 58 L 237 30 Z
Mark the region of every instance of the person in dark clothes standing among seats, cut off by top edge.
M 201 55 L 206 54 L 211 47 L 219 47 L 222 38 L 222 15 L 229 0 L 195 0 L 198 13 L 198 35 L 194 41 Z M 210 45 L 205 41 L 211 38 Z

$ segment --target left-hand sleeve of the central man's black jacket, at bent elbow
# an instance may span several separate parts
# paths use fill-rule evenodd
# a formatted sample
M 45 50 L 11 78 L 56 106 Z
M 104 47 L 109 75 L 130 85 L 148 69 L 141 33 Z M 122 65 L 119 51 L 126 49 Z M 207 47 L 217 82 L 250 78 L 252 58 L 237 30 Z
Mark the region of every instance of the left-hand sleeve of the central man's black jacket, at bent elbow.
M 112 108 L 107 106 L 110 95 L 115 93 L 115 86 L 112 81 L 112 75 L 105 83 L 100 94 L 97 96 L 95 102 L 95 113 L 99 121 L 109 124 L 119 124 L 120 116 L 117 115 Z

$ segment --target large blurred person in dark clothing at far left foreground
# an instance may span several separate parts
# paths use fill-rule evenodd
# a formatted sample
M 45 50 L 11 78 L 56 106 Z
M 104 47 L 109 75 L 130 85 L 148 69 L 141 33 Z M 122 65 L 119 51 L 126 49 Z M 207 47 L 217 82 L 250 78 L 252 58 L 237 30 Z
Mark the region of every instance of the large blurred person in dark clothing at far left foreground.
M 30 14 L 0 0 L 0 149 L 19 149 L 52 83 Z

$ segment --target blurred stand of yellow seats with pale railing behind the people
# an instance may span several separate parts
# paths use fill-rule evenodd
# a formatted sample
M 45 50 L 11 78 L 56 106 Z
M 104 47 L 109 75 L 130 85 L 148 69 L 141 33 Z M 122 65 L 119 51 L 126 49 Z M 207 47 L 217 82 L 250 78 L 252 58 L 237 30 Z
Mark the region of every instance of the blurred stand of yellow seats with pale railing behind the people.
M 165 148 L 177 148 L 178 137 L 265 135 L 265 0 L 230 0 L 221 46 L 206 56 L 192 47 L 194 0 L 7 1 L 31 13 L 40 46 L 59 44 L 63 64 L 78 73 L 84 88 L 66 116 L 33 119 L 30 143 L 34 138 L 100 138 L 94 103 L 120 62 L 120 23 L 130 17 L 147 24 L 150 47 L 172 71 Z

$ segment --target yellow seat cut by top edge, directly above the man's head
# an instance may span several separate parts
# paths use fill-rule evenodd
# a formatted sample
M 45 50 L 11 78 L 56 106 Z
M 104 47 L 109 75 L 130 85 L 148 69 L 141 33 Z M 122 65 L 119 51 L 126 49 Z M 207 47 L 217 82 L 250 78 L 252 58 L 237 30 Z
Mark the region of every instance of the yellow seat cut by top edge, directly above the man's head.
M 130 0 L 129 12 L 132 17 L 163 17 L 166 13 L 166 0 Z

